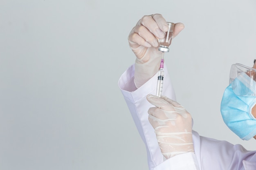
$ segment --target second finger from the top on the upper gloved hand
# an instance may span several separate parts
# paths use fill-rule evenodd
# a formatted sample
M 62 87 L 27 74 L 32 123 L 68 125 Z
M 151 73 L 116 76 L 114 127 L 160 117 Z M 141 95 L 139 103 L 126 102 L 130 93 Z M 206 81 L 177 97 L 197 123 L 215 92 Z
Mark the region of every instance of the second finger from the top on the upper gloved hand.
M 155 18 L 157 18 L 157 16 Z M 141 18 L 141 20 L 139 21 L 139 24 L 145 26 L 151 33 L 153 33 L 153 35 L 155 35 L 155 37 L 164 38 L 164 31 L 162 31 L 159 28 L 158 24 L 164 25 L 164 23 L 166 24 L 166 22 L 164 20 L 162 21 L 164 23 L 162 23 L 159 19 L 157 20 L 157 22 L 153 19 L 151 15 L 145 15 L 144 17 Z

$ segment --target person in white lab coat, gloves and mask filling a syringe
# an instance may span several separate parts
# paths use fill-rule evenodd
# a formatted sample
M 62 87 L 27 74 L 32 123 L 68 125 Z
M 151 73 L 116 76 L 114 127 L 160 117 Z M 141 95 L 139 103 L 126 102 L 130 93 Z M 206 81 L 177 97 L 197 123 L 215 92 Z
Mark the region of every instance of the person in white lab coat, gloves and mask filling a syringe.
M 201 137 L 192 130 L 191 115 L 175 102 L 175 93 L 166 66 L 164 66 L 165 88 L 162 93 L 166 97 L 148 95 L 155 94 L 156 73 L 162 58 L 162 52 L 158 51 L 157 39 L 163 38 L 167 29 L 166 21 L 160 14 L 145 15 L 137 22 L 128 37 L 130 48 L 136 55 L 135 64 L 121 75 L 118 82 L 139 134 L 146 145 L 149 169 L 256 170 L 256 151 L 247 151 L 243 146 L 233 145 L 227 141 Z M 182 29 L 184 25 L 176 23 L 173 36 L 177 36 Z M 238 71 L 236 68 L 234 70 Z M 240 115 L 241 110 L 247 113 L 248 105 L 254 102 L 253 98 L 255 98 L 248 99 L 243 97 L 243 94 L 234 94 L 233 89 L 236 84 L 241 85 L 241 81 L 236 80 L 233 80 L 234 86 L 231 84 L 225 90 L 221 104 L 222 117 L 235 133 L 239 132 L 238 127 L 244 128 L 248 122 L 250 125 L 256 124 L 251 121 L 254 118 L 251 113 L 244 117 L 246 124 L 243 127 L 239 119 L 232 119 Z M 248 81 L 250 84 L 249 79 Z M 236 109 L 232 107 L 234 103 L 229 102 L 228 97 L 241 105 L 246 103 L 247 106 L 243 105 L 241 107 L 243 109 Z M 238 134 L 241 138 L 249 139 L 256 135 L 254 132 L 248 132 L 246 128 L 241 131 L 243 132 Z

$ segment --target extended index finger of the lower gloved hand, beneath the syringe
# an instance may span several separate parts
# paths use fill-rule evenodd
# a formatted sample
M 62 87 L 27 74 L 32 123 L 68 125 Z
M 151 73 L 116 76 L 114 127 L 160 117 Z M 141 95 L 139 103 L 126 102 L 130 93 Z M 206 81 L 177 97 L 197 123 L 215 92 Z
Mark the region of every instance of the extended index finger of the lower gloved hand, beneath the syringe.
M 173 111 L 173 105 L 169 102 L 167 102 L 164 98 L 157 97 L 155 95 L 147 95 L 146 99 L 151 104 L 155 105 L 157 108 L 161 108 L 166 111 Z

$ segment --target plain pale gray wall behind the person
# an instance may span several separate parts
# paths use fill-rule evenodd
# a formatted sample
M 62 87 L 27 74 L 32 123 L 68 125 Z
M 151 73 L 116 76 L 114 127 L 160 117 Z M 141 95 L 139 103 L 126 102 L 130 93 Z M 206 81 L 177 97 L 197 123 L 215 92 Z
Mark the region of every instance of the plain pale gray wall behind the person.
M 119 91 L 143 15 L 185 29 L 165 55 L 177 101 L 200 135 L 243 144 L 220 101 L 233 63 L 256 58 L 254 0 L 1 0 L 0 169 L 146 170 L 146 149 Z

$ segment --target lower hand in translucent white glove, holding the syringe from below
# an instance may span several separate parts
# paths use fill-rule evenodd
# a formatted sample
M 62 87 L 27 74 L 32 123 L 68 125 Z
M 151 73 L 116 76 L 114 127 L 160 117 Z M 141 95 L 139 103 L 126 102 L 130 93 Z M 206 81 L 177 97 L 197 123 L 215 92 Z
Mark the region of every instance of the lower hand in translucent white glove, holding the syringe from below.
M 149 108 L 148 120 L 164 157 L 194 152 L 192 118 L 186 109 L 165 96 L 147 95 L 147 100 L 156 106 Z

